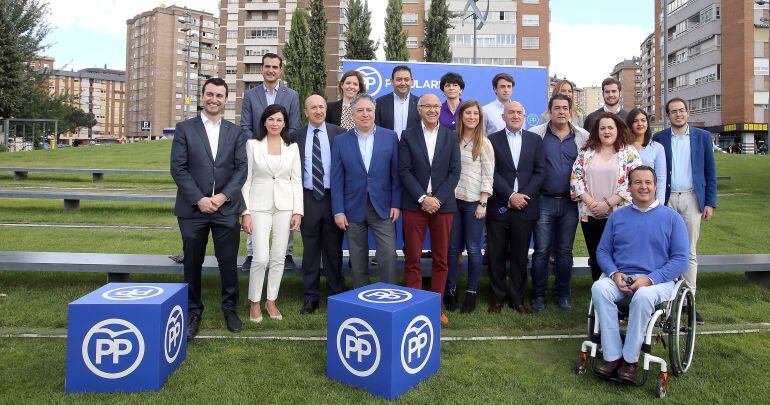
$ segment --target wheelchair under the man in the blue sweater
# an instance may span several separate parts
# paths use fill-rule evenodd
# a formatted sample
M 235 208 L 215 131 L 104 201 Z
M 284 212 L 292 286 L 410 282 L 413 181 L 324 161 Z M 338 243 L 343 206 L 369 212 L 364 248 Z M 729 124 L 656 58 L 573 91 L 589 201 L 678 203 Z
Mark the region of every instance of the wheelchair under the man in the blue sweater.
M 632 296 L 628 296 L 617 302 L 618 318 L 621 322 L 628 317 L 631 298 Z M 602 378 L 640 387 L 647 383 L 650 364 L 659 364 L 660 373 L 655 387 L 655 395 L 664 398 L 668 391 L 669 364 L 666 363 L 666 360 L 652 354 L 653 338 L 660 341 L 664 348 L 668 346 L 671 371 L 675 376 L 680 376 L 692 366 L 695 356 L 695 327 L 695 296 L 687 283 L 683 279 L 679 279 L 669 300 L 655 307 L 652 318 L 647 324 L 639 358 L 640 368 L 643 370 L 641 377 L 639 377 L 640 373 L 637 373 L 636 381 L 633 383 L 608 378 L 594 372 L 594 360 L 601 352 L 599 347 L 601 345 L 601 332 L 599 317 L 594 310 L 592 299 L 588 306 L 588 340 L 581 345 L 580 357 L 575 371 L 578 374 L 585 374 L 590 369 L 592 374 Z M 625 341 L 622 324 L 621 339 Z

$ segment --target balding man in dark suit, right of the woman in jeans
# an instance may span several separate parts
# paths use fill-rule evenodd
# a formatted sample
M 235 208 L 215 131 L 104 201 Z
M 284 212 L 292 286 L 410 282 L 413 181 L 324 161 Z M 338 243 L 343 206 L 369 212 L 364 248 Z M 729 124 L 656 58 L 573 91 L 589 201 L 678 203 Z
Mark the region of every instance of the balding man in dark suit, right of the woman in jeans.
M 527 251 L 540 215 L 538 200 L 546 168 L 543 140 L 534 132 L 521 129 L 525 116 L 524 106 L 520 103 L 506 103 L 503 110 L 505 129 L 489 136 L 495 150 L 494 193 L 487 210 L 489 279 L 492 284 L 490 313 L 500 313 L 506 290 L 516 312 L 532 313 L 524 306 Z M 506 252 L 510 252 L 508 268 Z M 506 275 L 511 279 L 510 288 L 506 288 Z

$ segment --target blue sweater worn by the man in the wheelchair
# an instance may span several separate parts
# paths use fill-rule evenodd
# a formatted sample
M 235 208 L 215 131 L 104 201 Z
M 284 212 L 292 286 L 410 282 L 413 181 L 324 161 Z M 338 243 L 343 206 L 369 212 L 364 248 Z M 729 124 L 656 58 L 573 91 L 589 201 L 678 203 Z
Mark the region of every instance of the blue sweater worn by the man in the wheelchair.
M 675 280 L 690 258 L 684 220 L 663 204 L 647 212 L 623 207 L 607 220 L 596 258 L 608 277 L 620 271 L 647 276 L 654 284 Z

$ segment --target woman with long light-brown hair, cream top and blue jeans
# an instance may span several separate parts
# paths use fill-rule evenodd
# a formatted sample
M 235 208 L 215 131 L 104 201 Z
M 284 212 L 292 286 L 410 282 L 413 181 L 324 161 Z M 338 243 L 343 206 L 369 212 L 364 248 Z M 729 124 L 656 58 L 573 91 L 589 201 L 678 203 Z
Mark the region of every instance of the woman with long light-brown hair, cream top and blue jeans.
M 492 195 L 495 153 L 484 133 L 484 115 L 476 100 L 462 103 L 458 109 L 457 139 L 460 144 L 460 181 L 455 188 L 457 212 L 452 221 L 448 274 L 444 305 L 447 311 L 457 309 L 457 270 L 460 252 L 468 251 L 468 285 L 461 313 L 476 308 L 476 287 L 481 275 L 481 233 L 487 213 L 487 199 Z

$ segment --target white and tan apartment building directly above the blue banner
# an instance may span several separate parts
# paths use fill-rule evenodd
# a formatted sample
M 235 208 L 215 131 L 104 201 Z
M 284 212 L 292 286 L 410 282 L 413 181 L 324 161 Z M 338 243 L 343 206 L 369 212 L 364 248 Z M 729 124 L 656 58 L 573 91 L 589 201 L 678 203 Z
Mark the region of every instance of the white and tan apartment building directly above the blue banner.
M 412 60 L 423 61 L 422 42 L 430 0 L 404 0 L 402 23 Z M 463 14 L 467 0 L 448 0 L 451 20 L 449 43 L 453 63 L 473 63 L 473 19 Z M 551 11 L 548 0 L 489 0 L 477 3 L 486 14 L 476 37 L 476 63 L 486 65 L 548 66 Z

